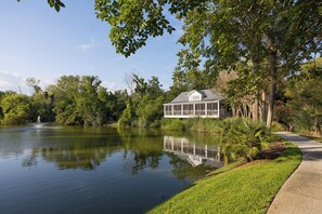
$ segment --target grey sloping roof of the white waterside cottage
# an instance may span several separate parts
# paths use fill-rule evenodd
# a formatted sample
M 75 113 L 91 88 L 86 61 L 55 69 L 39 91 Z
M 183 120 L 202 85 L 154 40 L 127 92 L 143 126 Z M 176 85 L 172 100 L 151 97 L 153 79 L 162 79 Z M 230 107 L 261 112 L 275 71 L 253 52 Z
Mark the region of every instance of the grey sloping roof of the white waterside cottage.
M 196 91 L 196 90 L 192 90 L 192 91 L 189 91 L 189 92 L 182 92 L 173 101 L 171 101 L 170 104 L 171 103 L 191 103 L 189 101 L 189 95 L 193 91 Z M 221 99 L 224 98 L 220 93 L 211 91 L 211 90 L 198 90 L 196 92 L 201 93 L 202 96 L 203 96 L 202 101 L 198 101 L 198 102 L 221 101 Z M 193 103 L 195 103 L 195 102 L 193 102 Z

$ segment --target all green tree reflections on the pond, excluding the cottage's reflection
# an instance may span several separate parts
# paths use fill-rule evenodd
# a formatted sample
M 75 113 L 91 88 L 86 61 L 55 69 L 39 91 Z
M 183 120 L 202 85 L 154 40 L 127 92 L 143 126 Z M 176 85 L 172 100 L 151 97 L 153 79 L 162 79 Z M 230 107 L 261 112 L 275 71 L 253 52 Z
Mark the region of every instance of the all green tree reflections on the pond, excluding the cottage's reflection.
M 61 137 L 63 136 L 63 137 Z M 159 132 L 126 131 L 102 135 L 98 133 L 76 133 L 74 135 L 52 135 L 31 150 L 22 162 L 24 166 L 37 165 L 39 158 L 54 163 L 57 169 L 94 170 L 108 157 L 123 152 L 119 164 L 124 170 L 138 174 L 145 168 L 157 169 L 164 155 L 163 136 Z M 173 174 L 179 179 L 196 179 L 203 176 L 210 166 L 193 168 L 186 160 L 168 153 Z M 38 160 L 38 162 L 37 162 Z

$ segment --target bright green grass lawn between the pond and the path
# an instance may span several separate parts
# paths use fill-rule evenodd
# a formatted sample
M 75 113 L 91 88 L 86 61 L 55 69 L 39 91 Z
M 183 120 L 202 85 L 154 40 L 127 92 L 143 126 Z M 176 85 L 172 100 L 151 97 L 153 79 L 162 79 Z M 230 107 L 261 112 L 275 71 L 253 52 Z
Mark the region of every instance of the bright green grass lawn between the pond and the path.
M 296 146 L 286 146 L 274 160 L 201 179 L 149 213 L 266 213 L 301 160 Z

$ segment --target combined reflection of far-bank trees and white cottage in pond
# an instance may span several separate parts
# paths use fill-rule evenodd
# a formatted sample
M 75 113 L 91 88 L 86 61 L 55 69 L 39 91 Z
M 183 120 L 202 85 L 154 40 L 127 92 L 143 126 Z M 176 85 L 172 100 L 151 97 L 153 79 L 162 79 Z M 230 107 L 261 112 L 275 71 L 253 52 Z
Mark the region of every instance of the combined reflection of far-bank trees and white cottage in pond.
M 118 131 L 117 134 L 103 134 L 78 130 L 70 134 L 70 131 L 47 130 L 36 132 L 33 136 L 38 137 L 41 144 L 34 143 L 29 155 L 24 157 L 22 165 L 27 168 L 36 166 L 41 158 L 42 161 L 54 163 L 60 170 L 91 171 L 108 161 L 114 153 L 121 153 L 123 169 L 138 174 L 145 168 L 157 169 L 164 152 L 180 179 L 196 178 L 195 175 L 202 171 L 222 165 L 217 146 L 198 144 L 186 137 L 163 136 L 159 132 Z M 193 169 L 201 165 L 202 169 Z M 195 175 L 189 175 L 186 171 Z

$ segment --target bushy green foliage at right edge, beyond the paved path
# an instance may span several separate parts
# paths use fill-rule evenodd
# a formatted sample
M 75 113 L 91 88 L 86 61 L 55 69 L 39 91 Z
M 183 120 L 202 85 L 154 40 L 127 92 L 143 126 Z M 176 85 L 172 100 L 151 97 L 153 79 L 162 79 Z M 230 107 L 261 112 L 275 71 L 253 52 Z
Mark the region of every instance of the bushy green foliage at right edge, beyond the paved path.
M 285 82 L 276 107 L 276 120 L 291 131 L 322 136 L 322 58 L 301 66 Z

